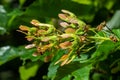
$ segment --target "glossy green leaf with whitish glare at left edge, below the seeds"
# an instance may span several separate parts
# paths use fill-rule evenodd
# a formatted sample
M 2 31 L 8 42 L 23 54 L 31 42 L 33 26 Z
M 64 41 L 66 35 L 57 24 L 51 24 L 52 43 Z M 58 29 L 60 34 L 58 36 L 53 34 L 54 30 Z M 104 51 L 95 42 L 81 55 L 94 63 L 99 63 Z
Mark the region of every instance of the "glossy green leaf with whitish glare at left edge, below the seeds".
M 24 46 L 11 47 L 4 46 L 0 48 L 0 65 L 10 61 L 16 57 L 20 57 L 22 60 L 30 59 L 32 61 L 37 61 L 38 57 L 32 56 L 35 52 L 35 49 L 27 50 Z

